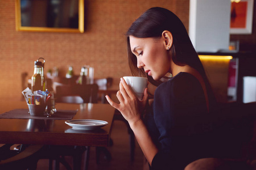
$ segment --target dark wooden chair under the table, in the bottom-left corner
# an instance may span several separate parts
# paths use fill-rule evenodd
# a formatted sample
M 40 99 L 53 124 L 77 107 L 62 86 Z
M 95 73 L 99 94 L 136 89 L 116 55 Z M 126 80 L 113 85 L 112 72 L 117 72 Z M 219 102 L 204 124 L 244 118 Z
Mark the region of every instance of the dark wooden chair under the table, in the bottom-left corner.
M 43 145 L 21 145 L 19 150 L 11 150 L 13 144 L 0 147 L 0 169 L 36 169 Z

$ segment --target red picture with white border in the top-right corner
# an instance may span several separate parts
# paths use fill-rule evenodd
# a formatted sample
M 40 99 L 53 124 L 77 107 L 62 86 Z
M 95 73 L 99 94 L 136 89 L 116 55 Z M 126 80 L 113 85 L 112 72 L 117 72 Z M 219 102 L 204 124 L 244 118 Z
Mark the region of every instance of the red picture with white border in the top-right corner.
M 231 3 L 230 34 L 251 34 L 253 26 L 253 1 Z

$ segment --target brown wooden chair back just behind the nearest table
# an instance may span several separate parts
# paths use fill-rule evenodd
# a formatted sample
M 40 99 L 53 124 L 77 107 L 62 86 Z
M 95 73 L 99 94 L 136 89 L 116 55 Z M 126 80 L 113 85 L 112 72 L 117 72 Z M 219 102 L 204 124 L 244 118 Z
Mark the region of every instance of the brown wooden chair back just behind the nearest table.
M 55 96 L 57 103 L 97 103 L 98 85 L 59 85 L 56 86 Z

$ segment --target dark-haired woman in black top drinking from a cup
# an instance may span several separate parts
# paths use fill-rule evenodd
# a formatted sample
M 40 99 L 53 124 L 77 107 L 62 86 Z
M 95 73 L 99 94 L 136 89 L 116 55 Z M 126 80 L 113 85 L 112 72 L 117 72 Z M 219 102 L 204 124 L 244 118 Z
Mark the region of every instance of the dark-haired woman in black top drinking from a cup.
M 120 104 L 106 99 L 129 122 L 150 168 L 184 169 L 194 160 L 215 156 L 209 133 L 214 96 L 180 19 L 165 8 L 150 8 L 127 31 L 127 50 L 133 75 L 160 84 L 152 107 L 147 88 L 140 101 L 123 78 Z

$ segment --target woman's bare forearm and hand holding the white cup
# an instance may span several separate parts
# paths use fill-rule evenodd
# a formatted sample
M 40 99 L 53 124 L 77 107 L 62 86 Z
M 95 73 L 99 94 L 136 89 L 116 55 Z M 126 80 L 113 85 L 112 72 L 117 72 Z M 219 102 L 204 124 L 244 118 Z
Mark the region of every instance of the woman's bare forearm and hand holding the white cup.
M 129 122 L 144 156 L 151 165 L 152 159 L 158 152 L 158 148 L 156 148 L 152 142 L 150 134 L 141 120 L 141 114 L 144 111 L 148 97 L 147 89 L 144 91 L 144 97 L 140 101 L 122 78 L 119 87 L 120 90 L 117 92 L 117 98 L 120 101 L 120 104 L 115 103 L 109 96 L 106 96 L 106 99 L 109 104 L 118 109 L 118 111 L 122 113 L 123 117 L 125 117 Z

